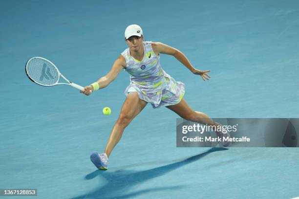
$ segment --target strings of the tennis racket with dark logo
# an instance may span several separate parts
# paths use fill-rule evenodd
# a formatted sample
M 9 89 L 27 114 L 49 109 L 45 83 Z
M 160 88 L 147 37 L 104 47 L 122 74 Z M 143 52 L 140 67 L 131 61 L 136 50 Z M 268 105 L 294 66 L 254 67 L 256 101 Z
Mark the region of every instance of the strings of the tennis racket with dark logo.
M 56 67 L 49 61 L 40 58 L 29 60 L 26 71 L 32 80 L 42 85 L 53 85 L 59 79 Z

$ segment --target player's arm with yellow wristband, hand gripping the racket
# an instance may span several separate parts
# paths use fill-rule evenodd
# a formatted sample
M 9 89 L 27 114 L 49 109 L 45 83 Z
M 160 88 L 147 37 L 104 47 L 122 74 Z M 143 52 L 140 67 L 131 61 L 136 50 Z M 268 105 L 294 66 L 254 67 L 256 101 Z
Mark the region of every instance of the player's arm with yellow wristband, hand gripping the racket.
M 125 58 L 120 55 L 113 63 L 111 70 L 107 73 L 107 75 L 103 76 L 96 82 L 99 84 L 99 89 L 105 88 L 109 85 L 119 74 L 119 72 L 127 67 L 127 63 Z M 93 86 L 85 86 L 85 91 L 80 91 L 80 93 L 84 93 L 85 95 L 90 95 L 93 91 Z

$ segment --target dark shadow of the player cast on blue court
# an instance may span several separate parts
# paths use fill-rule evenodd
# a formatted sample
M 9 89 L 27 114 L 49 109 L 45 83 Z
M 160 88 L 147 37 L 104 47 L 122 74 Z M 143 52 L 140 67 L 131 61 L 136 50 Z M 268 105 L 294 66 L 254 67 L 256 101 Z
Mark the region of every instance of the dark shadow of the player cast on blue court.
M 183 188 L 183 186 L 165 186 L 165 187 L 155 187 L 150 189 L 144 189 L 141 191 L 134 191 L 134 186 L 139 185 L 141 183 L 144 183 L 145 181 L 149 179 L 153 179 L 156 177 L 160 177 L 162 175 L 167 174 L 168 172 L 171 172 L 174 169 L 177 169 L 181 166 L 184 166 L 186 164 L 192 163 L 193 161 L 196 161 L 198 159 L 201 159 L 208 155 L 209 153 L 215 152 L 215 151 L 223 151 L 223 150 L 229 150 L 227 148 L 211 148 L 210 150 L 198 154 L 196 156 L 192 156 L 190 158 L 177 161 L 165 166 L 156 167 L 149 170 L 144 171 L 128 171 L 128 170 L 118 170 L 115 172 L 109 172 L 108 171 L 94 171 L 88 175 L 85 176 L 85 179 L 93 179 L 97 176 L 104 177 L 107 180 L 107 183 L 94 190 L 90 191 L 84 195 L 72 198 L 72 199 L 127 199 L 131 197 L 135 197 L 138 195 L 145 194 L 147 192 L 157 192 L 161 190 L 177 190 L 180 188 Z M 130 192 L 132 191 L 132 192 Z

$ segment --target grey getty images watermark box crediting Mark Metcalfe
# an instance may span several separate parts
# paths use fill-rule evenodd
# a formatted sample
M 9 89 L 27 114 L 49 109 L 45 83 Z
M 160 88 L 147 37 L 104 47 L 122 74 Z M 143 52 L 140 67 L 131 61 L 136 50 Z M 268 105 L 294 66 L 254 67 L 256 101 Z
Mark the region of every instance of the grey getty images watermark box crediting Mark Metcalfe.
M 176 120 L 177 147 L 214 147 L 230 141 L 230 147 L 297 147 L 299 119 L 222 118 L 219 126 Z M 216 131 L 229 137 L 218 137 Z

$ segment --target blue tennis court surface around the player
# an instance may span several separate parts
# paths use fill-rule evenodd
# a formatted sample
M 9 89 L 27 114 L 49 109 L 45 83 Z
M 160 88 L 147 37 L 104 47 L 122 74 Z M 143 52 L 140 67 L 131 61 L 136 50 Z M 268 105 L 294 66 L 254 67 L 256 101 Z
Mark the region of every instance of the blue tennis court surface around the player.
M 89 155 L 105 149 L 129 74 L 85 96 L 67 85 L 39 86 L 24 70 L 41 56 L 89 85 L 127 48 L 126 27 L 139 24 L 145 40 L 211 70 L 203 81 L 161 55 L 194 110 L 299 118 L 298 0 L 1 0 L 0 24 L 0 188 L 36 188 L 34 199 L 299 197 L 297 148 L 177 148 L 178 116 L 150 104 L 125 129 L 109 169 L 97 170 Z

